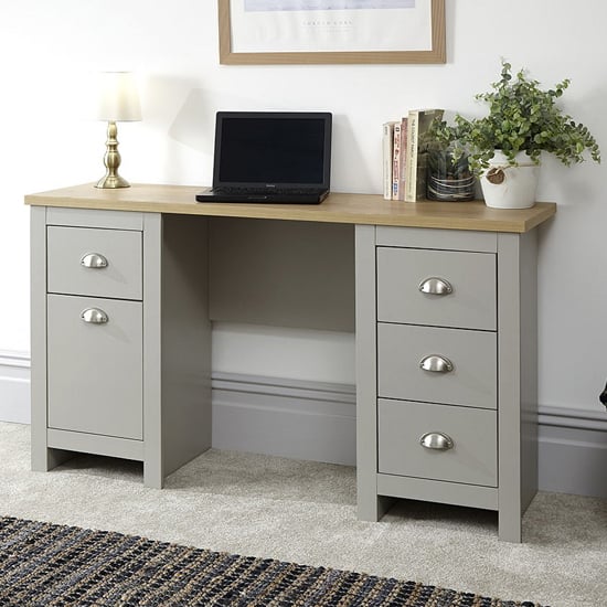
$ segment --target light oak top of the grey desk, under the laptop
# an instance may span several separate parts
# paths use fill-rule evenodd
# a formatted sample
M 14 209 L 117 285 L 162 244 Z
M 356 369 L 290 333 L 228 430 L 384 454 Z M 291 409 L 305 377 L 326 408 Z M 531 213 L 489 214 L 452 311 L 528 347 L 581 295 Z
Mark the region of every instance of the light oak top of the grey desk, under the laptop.
M 531 209 L 489 209 L 482 201 L 417 203 L 387 201 L 379 194 L 331 193 L 321 204 L 200 203 L 202 187 L 134 184 L 102 190 L 85 183 L 25 196 L 25 204 L 139 211 L 183 215 L 251 217 L 362 225 L 393 225 L 443 230 L 524 233 L 556 213 L 556 204 L 540 202 Z

